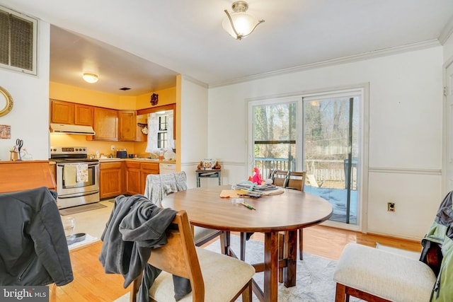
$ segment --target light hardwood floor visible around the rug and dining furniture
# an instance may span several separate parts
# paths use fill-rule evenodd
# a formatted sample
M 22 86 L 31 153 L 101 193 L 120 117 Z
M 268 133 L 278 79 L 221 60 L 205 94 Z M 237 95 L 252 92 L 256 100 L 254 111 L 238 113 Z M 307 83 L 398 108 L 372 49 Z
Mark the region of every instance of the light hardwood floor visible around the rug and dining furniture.
M 252 238 L 263 240 L 263 235 L 256 233 Z M 327 226 L 311 226 L 304 229 L 304 252 L 312 255 L 338 260 L 344 246 L 352 242 L 372 247 L 380 243 L 403 250 L 417 252 L 421 250 L 420 242 L 410 240 L 362 234 Z M 104 273 L 101 262 L 98 260 L 101 247 L 102 243 L 98 241 L 86 247 L 71 250 L 74 281 L 65 286 L 51 286 L 50 301 L 111 302 L 129 291 L 129 288 L 122 287 L 124 281 L 122 276 Z

